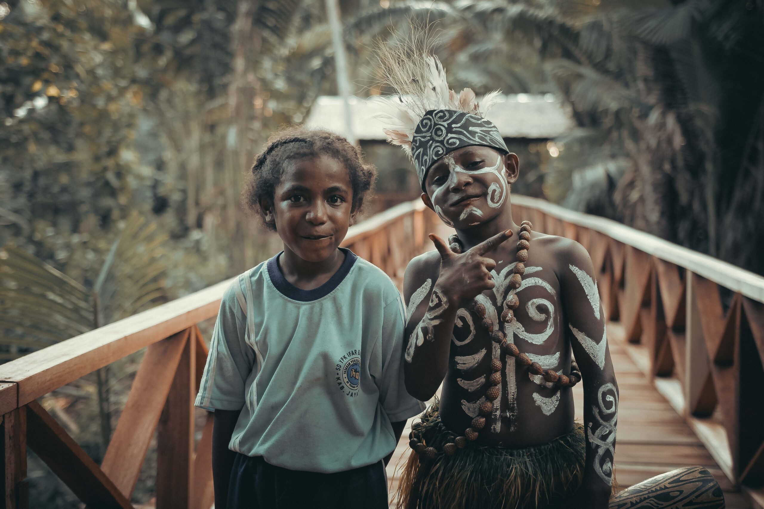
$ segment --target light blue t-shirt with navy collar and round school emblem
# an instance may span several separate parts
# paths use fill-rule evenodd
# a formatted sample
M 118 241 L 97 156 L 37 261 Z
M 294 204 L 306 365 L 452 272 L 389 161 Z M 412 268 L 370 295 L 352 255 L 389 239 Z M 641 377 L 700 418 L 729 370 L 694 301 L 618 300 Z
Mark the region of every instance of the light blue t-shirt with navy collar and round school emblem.
M 342 472 L 387 456 L 390 423 L 424 409 L 403 384 L 400 292 L 342 251 L 345 262 L 319 288 L 291 285 L 277 255 L 225 292 L 196 406 L 241 409 L 231 450 Z

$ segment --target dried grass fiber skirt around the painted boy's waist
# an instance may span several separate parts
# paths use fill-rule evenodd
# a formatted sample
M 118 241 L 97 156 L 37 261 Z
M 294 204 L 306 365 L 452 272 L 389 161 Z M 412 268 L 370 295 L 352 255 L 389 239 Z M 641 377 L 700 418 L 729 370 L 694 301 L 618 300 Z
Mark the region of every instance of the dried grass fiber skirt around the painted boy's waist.
M 427 446 L 439 451 L 455 433 L 440 420 L 435 401 L 413 425 L 416 438 L 427 432 Z M 412 451 L 400 477 L 398 509 L 541 509 L 556 507 L 581 485 L 586 439 L 584 426 L 550 443 L 526 449 L 468 443 L 453 456 L 439 453 L 419 462 Z

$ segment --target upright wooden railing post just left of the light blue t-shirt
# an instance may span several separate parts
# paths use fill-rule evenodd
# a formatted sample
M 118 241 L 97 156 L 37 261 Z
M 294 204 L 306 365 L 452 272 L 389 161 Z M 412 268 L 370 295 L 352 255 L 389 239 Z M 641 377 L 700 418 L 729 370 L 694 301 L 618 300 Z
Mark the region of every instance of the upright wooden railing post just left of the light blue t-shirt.
M 189 338 L 157 426 L 157 509 L 187 509 L 193 490 L 196 340 Z

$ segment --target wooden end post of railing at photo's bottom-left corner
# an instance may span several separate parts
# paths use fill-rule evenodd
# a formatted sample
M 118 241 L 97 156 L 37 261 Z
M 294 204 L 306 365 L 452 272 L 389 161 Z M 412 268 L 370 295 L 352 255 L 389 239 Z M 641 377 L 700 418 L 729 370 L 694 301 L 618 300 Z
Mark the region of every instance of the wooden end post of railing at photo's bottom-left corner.
M 28 509 L 27 484 L 27 408 L 21 407 L 2 416 L 3 493 L 6 509 Z

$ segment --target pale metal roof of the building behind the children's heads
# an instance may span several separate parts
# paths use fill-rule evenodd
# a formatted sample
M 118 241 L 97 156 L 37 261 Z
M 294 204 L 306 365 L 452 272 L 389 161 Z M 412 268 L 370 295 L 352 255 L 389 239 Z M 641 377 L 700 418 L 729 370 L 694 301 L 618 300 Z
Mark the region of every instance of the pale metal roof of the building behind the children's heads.
M 349 102 L 355 138 L 384 140 L 382 124 L 372 118 L 377 112 L 374 105 L 357 97 L 351 97 Z M 322 95 L 313 104 L 305 124 L 345 134 L 344 119 L 342 98 Z M 575 127 L 570 109 L 552 94 L 502 95 L 489 111 L 488 120 L 496 124 L 505 138 L 553 138 Z

